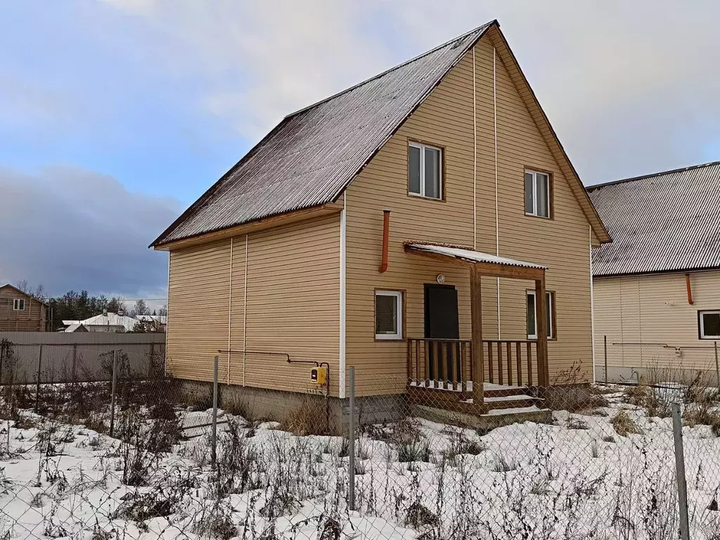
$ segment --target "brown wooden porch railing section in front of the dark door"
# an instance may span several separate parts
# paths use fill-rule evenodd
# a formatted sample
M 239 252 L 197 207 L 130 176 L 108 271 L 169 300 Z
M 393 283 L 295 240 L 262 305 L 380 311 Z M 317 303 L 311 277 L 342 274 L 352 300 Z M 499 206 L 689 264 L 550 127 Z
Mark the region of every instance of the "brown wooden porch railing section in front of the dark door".
M 472 342 L 409 338 L 408 384 L 454 392 L 472 391 Z

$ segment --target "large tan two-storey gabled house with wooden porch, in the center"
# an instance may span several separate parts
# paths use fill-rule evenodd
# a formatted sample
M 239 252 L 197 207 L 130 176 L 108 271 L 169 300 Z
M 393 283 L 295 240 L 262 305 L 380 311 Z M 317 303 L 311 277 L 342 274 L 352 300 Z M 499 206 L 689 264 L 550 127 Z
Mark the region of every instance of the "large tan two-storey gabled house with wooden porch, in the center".
M 167 369 L 208 382 L 220 354 L 222 382 L 267 395 L 318 362 L 344 398 L 355 366 L 359 396 L 510 407 L 518 382 L 592 380 L 609 240 L 491 22 L 285 117 L 153 242 Z

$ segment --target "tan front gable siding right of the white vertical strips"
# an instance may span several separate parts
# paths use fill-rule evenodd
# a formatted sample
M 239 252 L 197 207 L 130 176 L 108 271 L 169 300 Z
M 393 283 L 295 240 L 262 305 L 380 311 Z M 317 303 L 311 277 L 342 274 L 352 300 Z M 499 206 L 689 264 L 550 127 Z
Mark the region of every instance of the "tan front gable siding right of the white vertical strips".
M 482 60 L 482 73 L 487 74 L 492 70 L 492 44 L 482 40 L 478 48 L 482 54 L 476 53 L 476 58 Z M 557 308 L 557 340 L 548 343 L 550 382 L 573 366 L 580 367 L 582 380 L 591 380 L 588 221 L 499 55 L 495 59 L 495 73 L 500 255 L 548 266 L 546 289 L 555 292 Z M 482 153 L 491 150 L 483 148 Z M 552 175 L 553 219 L 525 215 L 523 174 L 526 168 Z M 503 338 L 526 336 L 524 302 L 528 287 L 533 285 L 500 279 L 500 335 Z

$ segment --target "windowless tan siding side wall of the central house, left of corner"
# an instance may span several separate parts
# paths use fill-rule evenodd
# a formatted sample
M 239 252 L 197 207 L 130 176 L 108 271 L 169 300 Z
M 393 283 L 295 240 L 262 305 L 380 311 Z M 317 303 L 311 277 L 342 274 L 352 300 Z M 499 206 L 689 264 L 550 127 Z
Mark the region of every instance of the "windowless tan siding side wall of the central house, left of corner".
M 337 377 L 339 230 L 333 215 L 171 252 L 171 372 L 212 380 L 212 358 L 229 344 L 234 352 L 219 354 L 221 382 L 310 388 L 310 365 L 280 354 L 328 362 Z

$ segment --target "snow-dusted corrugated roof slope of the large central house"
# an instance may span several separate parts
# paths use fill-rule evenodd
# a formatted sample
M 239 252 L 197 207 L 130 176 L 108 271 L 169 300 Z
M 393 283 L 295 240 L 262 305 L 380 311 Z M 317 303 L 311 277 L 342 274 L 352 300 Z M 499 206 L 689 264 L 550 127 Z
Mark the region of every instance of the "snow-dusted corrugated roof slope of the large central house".
M 153 246 L 333 202 L 494 23 L 289 115 Z

